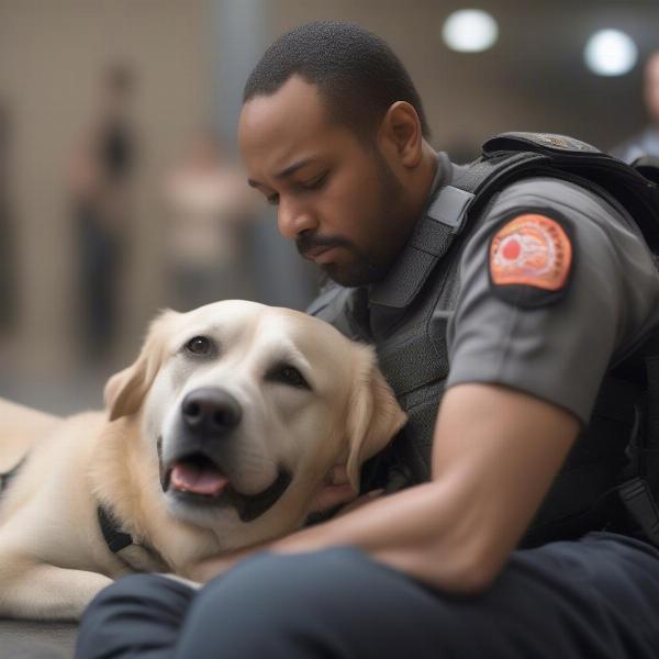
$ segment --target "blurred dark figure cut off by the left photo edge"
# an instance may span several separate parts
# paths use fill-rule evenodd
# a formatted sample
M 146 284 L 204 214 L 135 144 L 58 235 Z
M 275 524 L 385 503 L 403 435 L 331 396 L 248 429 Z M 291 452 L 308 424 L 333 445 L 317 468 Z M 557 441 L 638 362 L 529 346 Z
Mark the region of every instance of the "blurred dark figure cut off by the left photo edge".
M 10 192 L 9 108 L 0 99 L 0 337 L 14 328 L 18 312 L 15 223 Z

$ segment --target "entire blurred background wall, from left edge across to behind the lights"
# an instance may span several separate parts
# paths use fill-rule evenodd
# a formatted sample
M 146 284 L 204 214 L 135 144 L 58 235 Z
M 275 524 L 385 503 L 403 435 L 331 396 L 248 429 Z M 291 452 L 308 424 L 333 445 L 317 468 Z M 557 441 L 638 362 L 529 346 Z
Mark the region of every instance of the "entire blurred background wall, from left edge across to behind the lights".
M 166 300 L 165 171 L 209 120 L 231 139 L 245 71 L 293 25 L 349 20 L 383 36 L 417 83 L 435 146 L 457 159 L 506 130 L 562 132 L 608 148 L 644 124 L 640 66 L 600 78 L 585 69 L 582 47 L 594 30 L 619 27 L 643 59 L 659 47 L 659 3 L 468 5 L 499 22 L 500 41 L 488 53 L 443 45 L 444 19 L 463 7 L 457 0 L 0 0 L 0 102 L 11 115 L 5 155 L 20 303 L 15 326 L 0 335 L 0 395 L 56 412 L 100 404 L 104 379 L 132 359 L 147 320 Z M 99 366 L 80 359 L 72 331 L 76 254 L 66 177 L 93 113 L 99 70 L 118 58 L 138 78 L 139 158 L 121 340 L 113 360 Z M 303 306 L 314 276 L 279 241 L 266 211 L 254 248 L 261 267 L 257 297 Z M 299 281 L 305 283 L 294 289 Z

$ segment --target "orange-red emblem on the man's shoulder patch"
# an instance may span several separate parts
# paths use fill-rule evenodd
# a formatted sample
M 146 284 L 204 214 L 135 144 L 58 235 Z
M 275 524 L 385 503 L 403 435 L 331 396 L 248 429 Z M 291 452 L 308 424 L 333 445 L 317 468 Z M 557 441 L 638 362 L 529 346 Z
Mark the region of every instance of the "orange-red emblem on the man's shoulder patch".
M 502 226 L 490 245 L 492 283 L 559 291 L 572 265 L 572 244 L 551 217 L 527 213 Z

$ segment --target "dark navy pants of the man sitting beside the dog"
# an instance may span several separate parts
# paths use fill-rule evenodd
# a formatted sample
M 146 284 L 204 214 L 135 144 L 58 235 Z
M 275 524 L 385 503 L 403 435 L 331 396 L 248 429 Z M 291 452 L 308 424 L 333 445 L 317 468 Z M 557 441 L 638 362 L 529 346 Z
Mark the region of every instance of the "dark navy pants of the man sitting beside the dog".
M 659 658 L 659 551 L 613 534 L 517 551 L 484 594 L 425 588 L 354 548 L 261 554 L 193 591 L 103 591 L 78 658 Z

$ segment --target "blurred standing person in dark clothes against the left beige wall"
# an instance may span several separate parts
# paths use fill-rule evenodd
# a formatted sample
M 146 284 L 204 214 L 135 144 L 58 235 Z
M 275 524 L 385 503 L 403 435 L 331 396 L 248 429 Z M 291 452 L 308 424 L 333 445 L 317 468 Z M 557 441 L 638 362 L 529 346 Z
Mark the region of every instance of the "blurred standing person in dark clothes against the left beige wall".
M 120 270 L 125 259 L 135 135 L 132 70 L 108 66 L 98 116 L 75 150 L 70 183 L 79 242 L 80 317 L 87 355 L 108 358 L 118 331 Z

